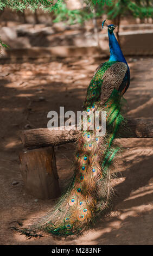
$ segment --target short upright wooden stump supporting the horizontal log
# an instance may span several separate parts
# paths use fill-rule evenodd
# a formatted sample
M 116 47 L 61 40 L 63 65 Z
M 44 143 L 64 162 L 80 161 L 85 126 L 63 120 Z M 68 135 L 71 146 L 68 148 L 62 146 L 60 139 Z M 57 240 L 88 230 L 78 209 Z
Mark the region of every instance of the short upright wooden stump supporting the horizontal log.
M 20 169 L 28 193 L 40 199 L 60 195 L 54 148 L 28 150 L 19 154 Z

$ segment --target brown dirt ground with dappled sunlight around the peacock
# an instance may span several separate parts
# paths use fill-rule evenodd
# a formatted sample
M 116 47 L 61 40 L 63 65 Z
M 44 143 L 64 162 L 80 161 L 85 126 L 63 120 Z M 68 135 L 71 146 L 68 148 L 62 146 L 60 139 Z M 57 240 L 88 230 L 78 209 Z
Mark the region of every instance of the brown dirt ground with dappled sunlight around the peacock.
M 152 117 L 153 59 L 127 58 L 131 85 L 125 98 L 131 118 Z M 116 193 L 110 216 L 101 217 L 78 238 L 27 240 L 10 227 L 52 208 L 54 200 L 36 200 L 24 190 L 18 153 L 20 130 L 47 127 L 47 113 L 79 111 L 93 71 L 103 62 L 94 58 L 66 58 L 50 63 L 0 65 L 0 243 L 1 245 L 151 245 L 153 237 L 153 142 L 152 139 L 120 139 L 125 152 L 119 159 L 121 174 L 114 180 Z M 56 147 L 56 160 L 63 187 L 71 173 L 73 144 Z M 17 181 L 16 185 L 12 185 Z M 26 222 L 26 221 L 25 221 Z

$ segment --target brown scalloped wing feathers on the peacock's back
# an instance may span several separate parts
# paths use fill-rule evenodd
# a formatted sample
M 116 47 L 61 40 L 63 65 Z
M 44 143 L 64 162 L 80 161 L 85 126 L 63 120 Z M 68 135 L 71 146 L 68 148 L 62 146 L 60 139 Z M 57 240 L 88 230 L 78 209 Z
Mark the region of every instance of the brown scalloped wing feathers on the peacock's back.
M 113 89 L 119 89 L 127 72 L 124 62 L 116 62 L 105 71 L 103 84 L 101 86 L 101 103 L 104 104 L 111 96 Z

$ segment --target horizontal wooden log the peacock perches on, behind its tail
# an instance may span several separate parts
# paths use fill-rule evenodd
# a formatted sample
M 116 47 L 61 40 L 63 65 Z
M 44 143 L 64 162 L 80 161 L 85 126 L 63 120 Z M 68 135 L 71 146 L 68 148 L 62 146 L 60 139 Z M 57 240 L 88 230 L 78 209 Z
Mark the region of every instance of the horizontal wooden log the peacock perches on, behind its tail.
M 149 119 L 128 119 L 127 129 L 122 129 L 119 138 L 152 138 L 153 118 Z M 53 130 L 47 128 L 24 130 L 20 133 L 21 141 L 25 148 L 48 147 L 50 145 L 60 145 L 68 142 L 75 142 L 78 138 L 78 130 Z

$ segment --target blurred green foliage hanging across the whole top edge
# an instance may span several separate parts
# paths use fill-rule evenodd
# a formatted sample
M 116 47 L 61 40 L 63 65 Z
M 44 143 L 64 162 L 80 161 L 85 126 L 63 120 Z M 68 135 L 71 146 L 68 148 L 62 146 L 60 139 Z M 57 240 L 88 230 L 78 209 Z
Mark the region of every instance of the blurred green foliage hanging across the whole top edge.
M 0 0 L 0 10 L 11 8 L 23 11 L 27 8 L 35 11 L 55 11 L 55 22 L 82 23 L 85 20 L 99 17 L 106 13 L 110 19 L 128 13 L 135 17 L 151 17 L 153 15 L 152 0 L 83 0 L 86 7 L 79 10 L 69 10 L 66 0 Z M 94 11 L 93 11 L 94 10 Z

